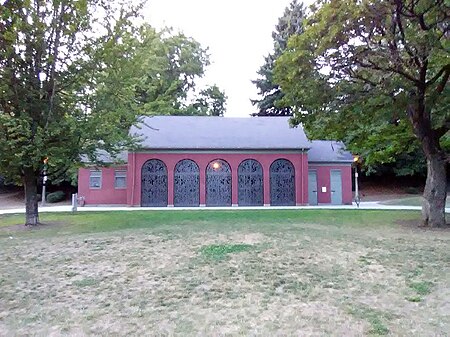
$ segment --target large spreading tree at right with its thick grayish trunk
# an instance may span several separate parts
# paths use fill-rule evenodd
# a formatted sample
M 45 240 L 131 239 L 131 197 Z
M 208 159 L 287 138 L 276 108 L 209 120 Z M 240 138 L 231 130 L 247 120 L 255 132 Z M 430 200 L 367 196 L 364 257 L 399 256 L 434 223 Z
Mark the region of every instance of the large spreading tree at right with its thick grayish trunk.
M 324 0 L 277 60 L 293 123 L 309 135 L 377 147 L 416 144 L 427 160 L 423 224 L 445 225 L 450 127 L 449 6 L 444 0 Z M 378 144 L 384 144 L 379 146 Z

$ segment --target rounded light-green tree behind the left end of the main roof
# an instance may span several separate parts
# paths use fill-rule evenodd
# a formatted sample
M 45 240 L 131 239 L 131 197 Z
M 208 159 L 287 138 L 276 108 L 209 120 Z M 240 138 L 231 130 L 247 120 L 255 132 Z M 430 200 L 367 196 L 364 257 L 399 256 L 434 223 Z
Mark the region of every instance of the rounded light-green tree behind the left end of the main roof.
M 136 98 L 144 108 L 143 113 L 182 114 L 196 80 L 209 64 L 206 50 L 183 34 L 171 35 L 168 30 L 157 33 L 150 26 L 143 26 L 131 45 L 133 57 L 145 62 L 145 67 L 132 65 L 142 71 L 136 84 Z

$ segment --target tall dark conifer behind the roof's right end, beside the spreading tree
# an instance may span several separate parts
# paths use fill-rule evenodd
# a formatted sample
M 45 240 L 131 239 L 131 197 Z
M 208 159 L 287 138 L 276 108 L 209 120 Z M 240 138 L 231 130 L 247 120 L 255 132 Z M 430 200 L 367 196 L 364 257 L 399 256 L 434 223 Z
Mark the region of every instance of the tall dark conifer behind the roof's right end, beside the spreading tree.
M 272 32 L 274 40 L 274 51 L 264 58 L 265 62 L 258 70 L 258 79 L 252 81 L 258 88 L 260 99 L 252 100 L 252 104 L 258 107 L 254 116 L 290 116 L 292 110 L 289 106 L 281 104 L 284 96 L 279 85 L 273 78 L 274 61 L 283 53 L 287 47 L 290 36 L 303 32 L 303 20 L 305 8 L 303 3 L 293 0 L 286 7 L 282 17 L 278 19 L 275 31 Z

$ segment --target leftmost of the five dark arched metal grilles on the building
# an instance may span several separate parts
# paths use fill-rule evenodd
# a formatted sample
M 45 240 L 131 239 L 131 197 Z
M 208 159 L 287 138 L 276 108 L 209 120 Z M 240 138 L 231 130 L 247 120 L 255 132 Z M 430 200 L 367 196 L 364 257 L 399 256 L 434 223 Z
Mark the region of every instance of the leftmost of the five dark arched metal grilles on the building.
M 158 159 L 142 166 L 142 206 L 167 206 L 167 167 Z

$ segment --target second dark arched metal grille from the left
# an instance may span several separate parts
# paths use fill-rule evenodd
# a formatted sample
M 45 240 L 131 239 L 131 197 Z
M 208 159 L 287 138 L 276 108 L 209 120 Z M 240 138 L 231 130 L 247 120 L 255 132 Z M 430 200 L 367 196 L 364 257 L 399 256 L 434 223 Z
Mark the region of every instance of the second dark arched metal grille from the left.
M 200 171 L 195 161 L 184 159 L 175 166 L 173 204 L 200 205 Z

